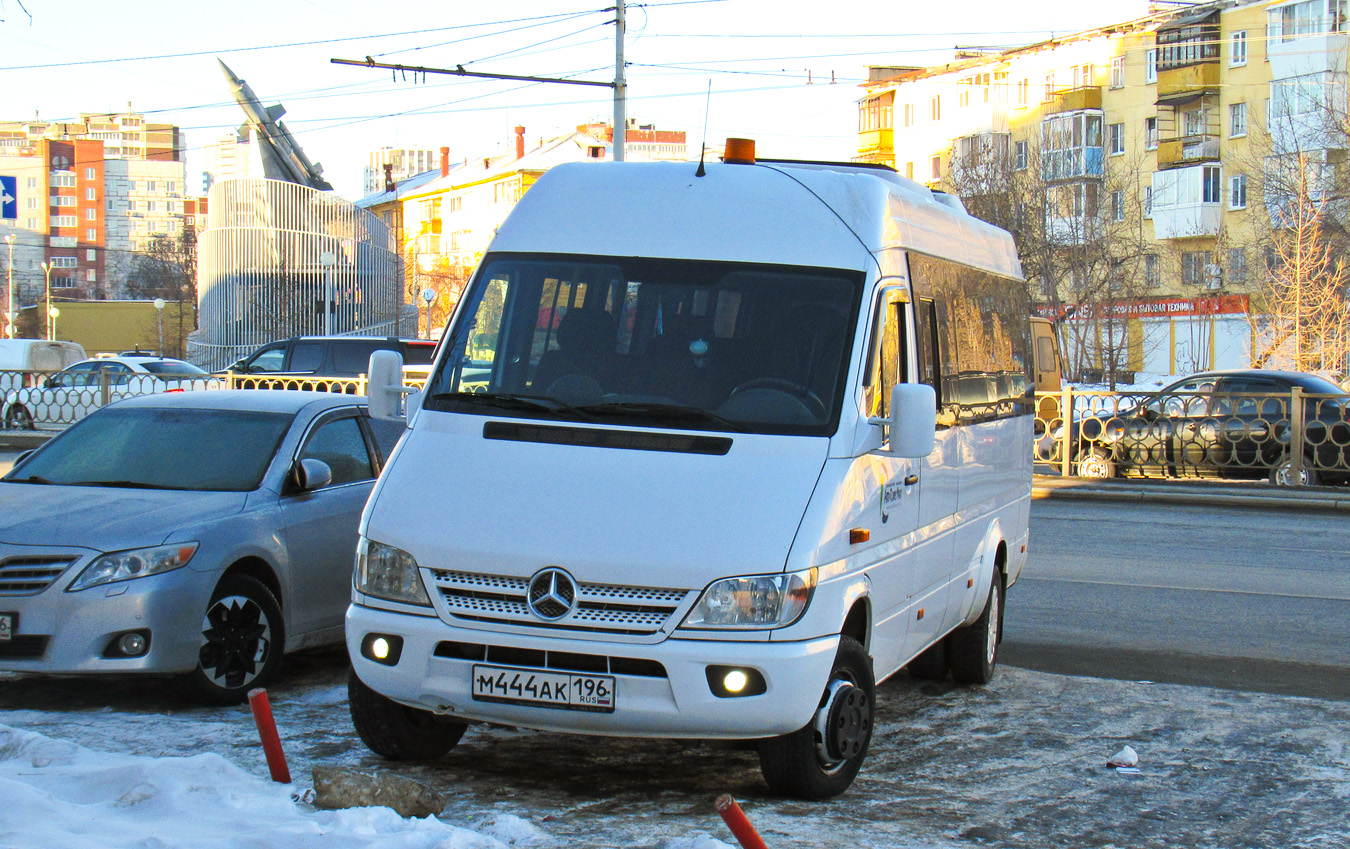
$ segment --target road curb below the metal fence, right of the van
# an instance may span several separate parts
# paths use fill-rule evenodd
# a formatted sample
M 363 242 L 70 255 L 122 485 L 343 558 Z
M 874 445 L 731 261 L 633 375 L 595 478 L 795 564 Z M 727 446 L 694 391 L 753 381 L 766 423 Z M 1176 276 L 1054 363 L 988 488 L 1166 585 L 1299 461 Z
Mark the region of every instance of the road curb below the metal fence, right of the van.
M 1079 501 L 1125 501 L 1142 503 L 1177 503 L 1204 506 L 1235 506 L 1256 510 L 1316 510 L 1327 513 L 1350 512 L 1350 494 L 1326 489 L 1261 487 L 1197 487 L 1164 481 L 1152 483 L 1083 483 L 1064 478 L 1035 479 L 1031 498 Z

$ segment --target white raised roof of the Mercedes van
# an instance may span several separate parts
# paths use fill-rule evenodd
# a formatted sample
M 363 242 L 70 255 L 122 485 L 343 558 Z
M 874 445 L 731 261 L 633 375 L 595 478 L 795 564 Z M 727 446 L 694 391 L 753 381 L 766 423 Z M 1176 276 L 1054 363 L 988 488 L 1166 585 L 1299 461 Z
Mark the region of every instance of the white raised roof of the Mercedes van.
M 1022 277 L 1007 232 L 892 170 L 761 161 L 713 163 L 695 177 L 695 167 L 555 166 L 517 202 L 493 250 L 865 270 L 876 252 L 903 248 Z

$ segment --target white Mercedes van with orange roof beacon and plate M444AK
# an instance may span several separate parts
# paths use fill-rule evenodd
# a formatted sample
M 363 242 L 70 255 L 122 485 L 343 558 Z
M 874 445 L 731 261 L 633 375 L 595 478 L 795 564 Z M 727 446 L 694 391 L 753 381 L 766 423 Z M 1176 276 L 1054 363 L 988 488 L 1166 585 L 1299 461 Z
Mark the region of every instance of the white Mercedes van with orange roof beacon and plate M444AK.
M 360 525 L 352 719 L 756 740 L 824 799 L 909 665 L 984 683 L 1026 560 L 1011 238 L 856 165 L 578 163 L 501 225 Z M 371 358 L 392 416 L 397 355 Z

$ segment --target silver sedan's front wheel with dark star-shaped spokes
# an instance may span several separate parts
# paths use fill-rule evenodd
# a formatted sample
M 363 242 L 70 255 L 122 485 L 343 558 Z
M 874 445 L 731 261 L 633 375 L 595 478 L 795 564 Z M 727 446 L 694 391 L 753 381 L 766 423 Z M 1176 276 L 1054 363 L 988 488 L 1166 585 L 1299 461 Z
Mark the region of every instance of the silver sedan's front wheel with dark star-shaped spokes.
M 277 674 L 284 645 L 281 606 L 271 590 L 248 575 L 227 575 L 201 618 L 189 684 L 205 702 L 238 705 Z

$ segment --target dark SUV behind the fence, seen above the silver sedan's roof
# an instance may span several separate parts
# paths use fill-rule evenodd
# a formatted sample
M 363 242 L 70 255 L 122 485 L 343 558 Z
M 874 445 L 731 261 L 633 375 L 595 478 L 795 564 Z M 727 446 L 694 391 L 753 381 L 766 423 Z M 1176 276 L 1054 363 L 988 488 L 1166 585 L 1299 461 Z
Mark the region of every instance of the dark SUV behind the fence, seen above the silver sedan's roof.
M 354 378 L 366 374 L 375 351 L 397 351 L 405 366 L 431 366 L 436 343 L 393 336 L 292 336 L 271 341 L 230 366 L 236 374 Z

